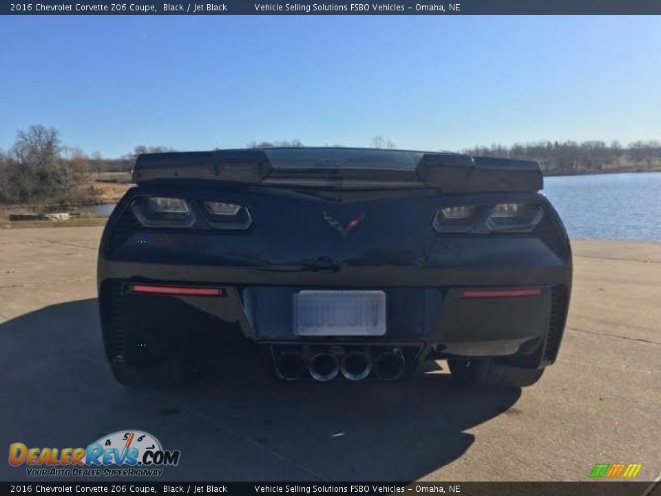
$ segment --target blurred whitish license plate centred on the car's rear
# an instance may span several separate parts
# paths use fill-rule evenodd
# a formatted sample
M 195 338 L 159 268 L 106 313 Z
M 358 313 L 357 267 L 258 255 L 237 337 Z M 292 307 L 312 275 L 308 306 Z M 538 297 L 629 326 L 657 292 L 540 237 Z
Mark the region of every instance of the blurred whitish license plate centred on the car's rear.
M 296 335 L 386 333 L 384 291 L 300 291 L 294 296 Z

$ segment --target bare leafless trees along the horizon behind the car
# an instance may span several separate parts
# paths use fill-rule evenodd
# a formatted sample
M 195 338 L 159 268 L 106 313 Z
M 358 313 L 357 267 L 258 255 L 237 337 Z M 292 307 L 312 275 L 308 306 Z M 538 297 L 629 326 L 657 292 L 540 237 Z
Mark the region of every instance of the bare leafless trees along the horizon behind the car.
M 370 147 L 396 149 L 388 137 L 374 136 Z M 251 141 L 248 148 L 303 147 L 300 140 Z M 337 146 L 337 145 L 333 145 Z M 0 149 L 0 203 L 38 203 L 70 198 L 72 192 L 93 174 L 128 172 L 136 156 L 143 153 L 174 152 L 165 146 L 138 145 L 119 158 L 104 158 L 98 152 L 87 156 L 78 147 L 63 145 L 54 127 L 33 125 L 17 132 L 6 152 Z M 661 170 L 659 141 L 539 141 L 510 147 L 491 145 L 462 150 L 475 156 L 523 158 L 541 163 L 545 174 L 586 174 L 625 170 Z

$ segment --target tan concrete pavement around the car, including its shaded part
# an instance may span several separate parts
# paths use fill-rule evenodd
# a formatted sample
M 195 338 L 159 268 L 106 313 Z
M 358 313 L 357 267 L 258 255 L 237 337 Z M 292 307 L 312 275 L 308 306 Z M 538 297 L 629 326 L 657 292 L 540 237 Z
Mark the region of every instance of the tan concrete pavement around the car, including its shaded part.
M 587 480 L 661 471 L 661 243 L 576 241 L 558 362 L 529 389 L 284 383 L 237 353 L 192 389 L 114 382 L 98 325 L 101 227 L 0 230 L 0 448 L 87 446 L 127 428 L 182 452 L 164 479 Z M 430 369 L 433 369 L 431 367 Z M 0 463 L 0 479 L 25 479 Z

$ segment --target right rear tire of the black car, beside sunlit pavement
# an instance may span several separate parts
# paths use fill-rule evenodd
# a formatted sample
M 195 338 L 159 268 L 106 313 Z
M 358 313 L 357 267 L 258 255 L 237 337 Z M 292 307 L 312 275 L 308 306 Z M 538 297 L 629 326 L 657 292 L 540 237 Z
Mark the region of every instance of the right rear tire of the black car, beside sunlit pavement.
M 532 386 L 544 369 L 522 369 L 496 364 L 492 360 L 457 360 L 450 362 L 452 379 L 462 386 L 514 389 Z

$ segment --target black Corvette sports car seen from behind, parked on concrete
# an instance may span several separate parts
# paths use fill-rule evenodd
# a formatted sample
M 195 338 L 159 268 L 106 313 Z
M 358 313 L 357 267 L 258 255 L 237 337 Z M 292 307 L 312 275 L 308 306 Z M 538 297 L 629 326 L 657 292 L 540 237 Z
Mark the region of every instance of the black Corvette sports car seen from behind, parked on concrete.
M 180 383 L 237 339 L 286 380 L 446 359 L 464 384 L 527 386 L 556 359 L 571 249 L 536 162 L 237 149 L 140 155 L 133 178 L 98 256 L 123 384 Z

